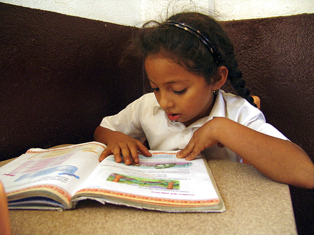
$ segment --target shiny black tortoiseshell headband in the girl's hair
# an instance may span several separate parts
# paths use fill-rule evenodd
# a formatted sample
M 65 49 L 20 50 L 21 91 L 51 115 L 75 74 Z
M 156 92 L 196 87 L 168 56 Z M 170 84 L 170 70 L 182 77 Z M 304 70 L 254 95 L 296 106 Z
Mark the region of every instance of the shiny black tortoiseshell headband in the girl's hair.
M 214 50 L 213 44 L 210 43 L 208 38 L 206 38 L 206 36 L 203 33 L 201 33 L 196 28 L 193 28 L 192 26 L 190 26 L 190 25 L 188 25 L 186 23 L 182 23 L 182 22 L 175 21 L 175 20 L 167 20 L 167 21 L 164 22 L 164 24 L 169 24 L 169 25 L 172 25 L 172 26 L 176 26 L 176 27 L 182 28 L 184 30 L 187 30 L 189 33 L 192 33 L 199 40 L 201 40 L 203 43 L 205 43 L 206 47 L 212 53 L 212 55 L 214 57 L 214 60 L 216 62 L 216 65 L 219 64 L 219 59 L 220 59 L 219 54 L 217 54 L 217 52 Z

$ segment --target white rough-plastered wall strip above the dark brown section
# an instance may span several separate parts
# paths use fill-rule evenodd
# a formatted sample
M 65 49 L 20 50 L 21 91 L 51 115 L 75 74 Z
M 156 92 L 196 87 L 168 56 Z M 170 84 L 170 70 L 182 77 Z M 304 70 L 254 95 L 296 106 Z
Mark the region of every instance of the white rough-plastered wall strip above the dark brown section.
M 106 22 L 140 26 L 149 19 L 193 7 L 189 0 L 0 0 L 29 8 L 48 10 Z M 238 20 L 314 13 L 314 0 L 194 0 L 220 20 Z M 170 4 L 169 4 L 170 3 Z

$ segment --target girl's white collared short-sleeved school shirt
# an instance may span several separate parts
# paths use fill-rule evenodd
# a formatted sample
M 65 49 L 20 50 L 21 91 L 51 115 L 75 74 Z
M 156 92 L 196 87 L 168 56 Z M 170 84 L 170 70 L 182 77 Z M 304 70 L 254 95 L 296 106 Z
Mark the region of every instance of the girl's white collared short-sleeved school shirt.
M 169 120 L 154 93 L 143 95 L 116 115 L 105 117 L 100 126 L 121 131 L 141 142 L 147 139 L 151 150 L 161 151 L 184 149 L 192 138 L 193 132 L 214 117 L 226 117 L 253 130 L 287 140 L 276 128 L 266 123 L 260 110 L 245 99 L 222 90 L 216 93 L 217 97 L 210 115 L 188 127 L 181 122 Z M 214 145 L 202 153 L 214 158 L 242 161 L 240 156 L 227 147 L 220 148 Z

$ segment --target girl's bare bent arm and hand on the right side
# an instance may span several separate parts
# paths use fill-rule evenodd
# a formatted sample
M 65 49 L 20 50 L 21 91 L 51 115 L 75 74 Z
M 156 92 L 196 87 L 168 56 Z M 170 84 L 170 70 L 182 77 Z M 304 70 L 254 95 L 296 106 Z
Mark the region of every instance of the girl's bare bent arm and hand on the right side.
M 314 188 L 314 165 L 299 146 L 224 117 L 216 117 L 196 130 L 177 157 L 192 160 L 214 144 L 226 146 L 274 181 Z

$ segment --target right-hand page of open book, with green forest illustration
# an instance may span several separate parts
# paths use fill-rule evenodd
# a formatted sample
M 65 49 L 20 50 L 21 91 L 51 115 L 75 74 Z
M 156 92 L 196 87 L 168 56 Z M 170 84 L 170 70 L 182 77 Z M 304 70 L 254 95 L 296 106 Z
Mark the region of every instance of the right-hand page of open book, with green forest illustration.
M 176 151 L 150 151 L 131 166 L 105 158 L 82 184 L 79 193 L 172 206 L 211 206 L 220 202 L 205 161 L 176 158 Z M 76 195 L 74 196 L 76 197 Z M 101 196 L 99 196 L 101 197 Z

